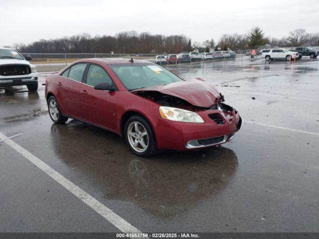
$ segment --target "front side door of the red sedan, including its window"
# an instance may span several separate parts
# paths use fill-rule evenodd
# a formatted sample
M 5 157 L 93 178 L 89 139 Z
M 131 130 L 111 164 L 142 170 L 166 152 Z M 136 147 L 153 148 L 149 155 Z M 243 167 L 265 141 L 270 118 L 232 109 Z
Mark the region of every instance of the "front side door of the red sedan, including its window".
M 119 92 L 94 89 L 98 83 L 107 82 L 115 86 L 114 82 L 106 70 L 96 64 L 90 64 L 85 75 L 80 88 L 82 118 L 87 122 L 116 130 Z

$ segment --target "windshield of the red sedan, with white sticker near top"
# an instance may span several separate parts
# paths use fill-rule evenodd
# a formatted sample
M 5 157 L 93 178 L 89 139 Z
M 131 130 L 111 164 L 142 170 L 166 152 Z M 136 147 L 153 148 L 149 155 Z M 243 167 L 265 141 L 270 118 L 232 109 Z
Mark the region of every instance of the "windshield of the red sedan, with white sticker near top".
M 151 63 L 111 64 L 110 67 L 129 91 L 182 81 L 168 70 Z

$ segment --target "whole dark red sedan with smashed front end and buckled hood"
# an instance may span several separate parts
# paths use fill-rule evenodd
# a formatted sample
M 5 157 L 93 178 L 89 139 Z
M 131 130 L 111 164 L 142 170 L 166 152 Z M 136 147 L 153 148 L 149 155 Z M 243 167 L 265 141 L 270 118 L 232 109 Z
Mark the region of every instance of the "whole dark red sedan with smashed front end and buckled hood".
M 143 157 L 222 144 L 241 126 L 213 85 L 184 81 L 148 61 L 76 61 L 47 77 L 45 96 L 53 122 L 72 118 L 111 130 Z

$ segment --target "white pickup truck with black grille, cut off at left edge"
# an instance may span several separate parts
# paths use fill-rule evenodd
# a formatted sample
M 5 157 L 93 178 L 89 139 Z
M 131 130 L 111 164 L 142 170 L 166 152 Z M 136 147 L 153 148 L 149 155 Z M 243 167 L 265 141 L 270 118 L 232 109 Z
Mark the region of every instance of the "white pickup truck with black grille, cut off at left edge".
M 38 89 L 36 67 L 11 48 L 0 48 L 0 87 L 26 86 L 29 91 Z

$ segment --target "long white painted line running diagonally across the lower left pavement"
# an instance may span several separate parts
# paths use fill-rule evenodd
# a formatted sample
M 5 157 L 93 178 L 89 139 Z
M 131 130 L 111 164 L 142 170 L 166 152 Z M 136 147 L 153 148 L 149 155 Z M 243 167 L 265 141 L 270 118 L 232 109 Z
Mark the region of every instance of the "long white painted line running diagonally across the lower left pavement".
M 0 139 L 7 138 L 3 133 L 0 132 Z M 108 220 L 111 224 L 121 230 L 123 233 L 141 233 L 138 229 L 133 227 L 130 223 L 125 221 L 119 215 L 115 214 L 111 209 L 100 203 L 98 200 L 93 198 L 91 195 L 83 191 L 81 188 L 73 184 L 71 181 L 66 179 L 64 176 L 59 174 L 57 171 L 52 169 L 50 166 L 45 164 L 43 161 L 35 157 L 33 154 L 22 148 L 11 139 L 4 141 L 18 153 L 28 159 L 31 163 L 36 165 L 39 169 L 61 184 L 64 188 L 69 190 L 72 194 L 82 200 L 86 205 L 91 207 L 94 211 L 100 214 L 103 218 Z

